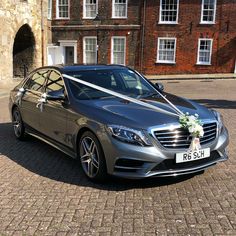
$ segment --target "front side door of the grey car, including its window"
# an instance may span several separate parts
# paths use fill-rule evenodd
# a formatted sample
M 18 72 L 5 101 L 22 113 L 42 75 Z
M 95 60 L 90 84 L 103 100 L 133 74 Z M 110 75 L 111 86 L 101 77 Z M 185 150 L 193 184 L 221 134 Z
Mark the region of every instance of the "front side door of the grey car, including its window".
M 65 86 L 59 71 L 51 70 L 45 86 L 45 92 L 52 91 L 65 92 Z M 66 123 L 67 123 L 67 96 L 65 100 L 47 99 L 43 105 L 40 114 L 40 130 L 41 132 L 61 144 L 66 145 Z

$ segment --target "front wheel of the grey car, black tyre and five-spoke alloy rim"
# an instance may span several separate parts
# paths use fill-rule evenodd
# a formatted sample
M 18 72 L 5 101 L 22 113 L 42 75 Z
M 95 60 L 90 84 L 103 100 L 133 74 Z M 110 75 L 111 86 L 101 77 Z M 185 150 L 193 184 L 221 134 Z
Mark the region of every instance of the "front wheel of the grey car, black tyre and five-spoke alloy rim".
M 97 137 L 86 131 L 79 141 L 79 158 L 85 175 L 93 181 L 103 181 L 107 176 L 106 161 Z

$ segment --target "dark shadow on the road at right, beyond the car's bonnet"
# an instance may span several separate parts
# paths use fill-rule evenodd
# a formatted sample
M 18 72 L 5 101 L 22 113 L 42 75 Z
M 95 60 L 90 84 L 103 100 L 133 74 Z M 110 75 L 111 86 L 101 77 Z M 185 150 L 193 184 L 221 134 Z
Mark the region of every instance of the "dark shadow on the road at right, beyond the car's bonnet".
M 236 109 L 236 101 L 223 100 L 223 99 L 193 99 L 193 101 L 205 105 L 208 108 L 219 109 Z

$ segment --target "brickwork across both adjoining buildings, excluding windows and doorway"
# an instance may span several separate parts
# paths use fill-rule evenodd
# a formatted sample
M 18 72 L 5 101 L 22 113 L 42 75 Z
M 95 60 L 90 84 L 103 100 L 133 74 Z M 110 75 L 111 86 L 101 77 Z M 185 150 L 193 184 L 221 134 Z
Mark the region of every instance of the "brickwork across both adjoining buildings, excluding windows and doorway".
M 83 19 L 83 0 L 71 0 L 70 20 L 57 20 L 53 0 L 52 26 L 96 25 L 93 20 Z M 112 19 L 112 0 L 99 0 L 99 17 L 101 24 L 98 30 L 94 27 L 82 29 L 52 28 L 52 42 L 58 40 L 78 41 L 78 63 L 83 61 L 83 37 L 99 36 L 99 63 L 111 61 L 111 37 L 126 36 L 126 65 L 145 74 L 185 74 L 185 73 L 232 73 L 236 55 L 236 0 L 217 0 L 216 24 L 200 24 L 202 0 L 179 0 L 179 19 L 176 25 L 159 24 L 160 0 L 146 0 L 146 20 L 143 19 L 144 0 L 128 1 L 128 18 Z M 144 55 L 141 62 L 140 28 L 130 25 L 145 24 Z M 106 29 L 104 25 L 113 25 Z M 119 25 L 129 25 L 118 29 Z M 117 26 L 117 27 L 116 27 Z M 176 37 L 176 63 L 160 64 L 157 59 L 158 37 Z M 197 65 L 199 38 L 213 38 L 211 65 Z M 141 65 L 142 64 L 142 65 Z

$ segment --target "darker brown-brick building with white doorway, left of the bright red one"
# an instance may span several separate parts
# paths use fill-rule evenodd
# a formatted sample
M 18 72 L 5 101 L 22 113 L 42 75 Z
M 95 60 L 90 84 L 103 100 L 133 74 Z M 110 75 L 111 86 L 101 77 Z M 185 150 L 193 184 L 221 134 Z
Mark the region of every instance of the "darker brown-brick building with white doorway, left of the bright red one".
M 49 64 L 98 62 L 137 67 L 141 1 L 52 0 L 51 4 Z

